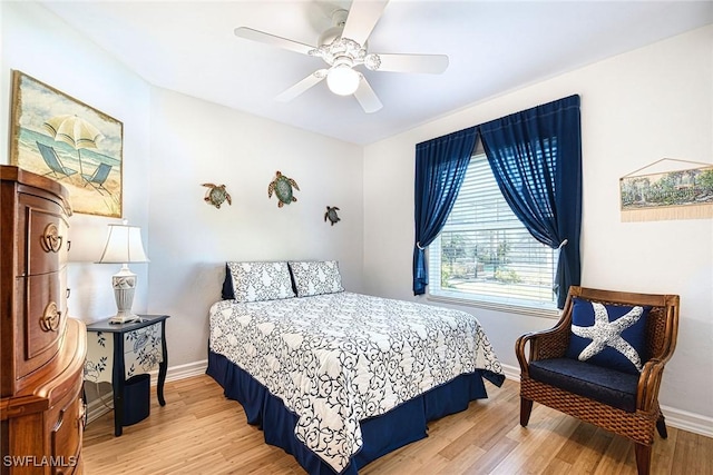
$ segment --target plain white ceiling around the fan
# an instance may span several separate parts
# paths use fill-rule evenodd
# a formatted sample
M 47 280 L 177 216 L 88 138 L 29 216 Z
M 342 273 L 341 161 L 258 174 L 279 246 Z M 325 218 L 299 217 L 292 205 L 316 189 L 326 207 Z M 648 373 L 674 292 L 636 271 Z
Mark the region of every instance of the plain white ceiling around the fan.
M 233 33 L 245 26 L 315 44 L 331 12 L 350 1 L 40 3 L 152 85 L 360 145 L 713 22 L 712 1 L 392 0 L 369 51 L 443 53 L 450 65 L 442 75 L 362 68 L 383 102 L 368 115 L 324 81 L 274 101 L 322 60 Z

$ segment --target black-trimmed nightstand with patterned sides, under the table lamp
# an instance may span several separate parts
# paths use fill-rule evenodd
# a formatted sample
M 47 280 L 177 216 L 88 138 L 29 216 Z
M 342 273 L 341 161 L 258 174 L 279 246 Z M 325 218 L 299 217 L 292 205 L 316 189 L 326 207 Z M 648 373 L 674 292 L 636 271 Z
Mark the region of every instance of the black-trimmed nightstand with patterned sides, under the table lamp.
M 166 319 L 168 315 L 139 315 L 140 321 L 126 324 L 110 324 L 108 319 L 87 325 L 87 331 L 96 333 L 98 346 L 95 348 L 107 348 L 108 342 L 104 334 L 114 335 L 113 350 L 110 355 L 99 356 L 91 350 L 92 338 L 88 338 L 89 350 L 87 353 L 87 365 L 85 366 L 85 379 L 99 380 L 99 374 L 107 366 L 107 359 L 111 358 L 111 386 L 114 392 L 114 435 L 120 436 L 125 425 L 125 386 L 128 376 L 148 372 L 158 364 L 158 385 L 156 394 L 158 404 L 166 405 L 164 399 L 164 383 L 166 382 L 166 370 L 168 368 L 168 353 L 166 350 Z M 129 342 L 126 349 L 125 342 Z M 92 359 L 94 358 L 94 359 Z M 127 359 L 131 358 L 127 368 Z M 138 368 L 136 366 L 139 366 Z M 95 375 L 96 374 L 96 375 Z

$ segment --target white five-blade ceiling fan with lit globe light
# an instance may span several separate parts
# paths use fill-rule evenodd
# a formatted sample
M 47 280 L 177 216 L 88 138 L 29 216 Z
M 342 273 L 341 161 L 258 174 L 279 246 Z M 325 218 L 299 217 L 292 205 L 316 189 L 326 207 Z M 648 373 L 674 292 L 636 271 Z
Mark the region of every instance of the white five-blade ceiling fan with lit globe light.
M 281 38 L 247 27 L 235 34 L 253 41 L 322 58 L 329 68 L 318 69 L 280 93 L 275 100 L 286 102 L 326 79 L 329 89 L 340 96 L 354 95 L 365 112 L 375 112 L 382 103 L 364 75 L 354 68 L 363 65 L 371 71 L 441 73 L 448 68 L 445 55 L 384 55 L 368 52 L 367 40 L 381 17 L 388 0 L 354 0 L 350 11 L 336 10 L 333 26 L 324 31 L 318 46 Z

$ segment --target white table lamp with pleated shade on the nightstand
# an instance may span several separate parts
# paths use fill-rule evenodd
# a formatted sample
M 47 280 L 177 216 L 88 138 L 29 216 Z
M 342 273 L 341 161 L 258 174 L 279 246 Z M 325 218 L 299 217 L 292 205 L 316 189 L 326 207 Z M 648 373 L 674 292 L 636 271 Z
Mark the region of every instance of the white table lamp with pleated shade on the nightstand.
M 120 225 L 109 225 L 107 244 L 98 260 L 99 264 L 121 264 L 121 269 L 111 277 L 117 314 L 109 318 L 111 324 L 138 321 L 138 315 L 131 314 L 136 274 L 129 270 L 129 263 L 148 263 L 141 244 L 141 228 L 129 226 L 124 220 Z

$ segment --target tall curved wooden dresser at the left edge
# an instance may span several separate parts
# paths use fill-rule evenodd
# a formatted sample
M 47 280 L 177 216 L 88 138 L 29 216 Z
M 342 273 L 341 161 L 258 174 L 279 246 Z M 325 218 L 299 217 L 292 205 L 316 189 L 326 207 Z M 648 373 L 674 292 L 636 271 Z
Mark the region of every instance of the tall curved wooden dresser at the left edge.
M 85 325 L 67 318 L 67 190 L 0 166 L 0 473 L 81 474 Z

